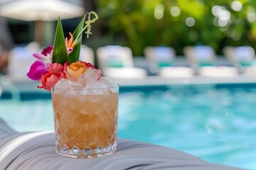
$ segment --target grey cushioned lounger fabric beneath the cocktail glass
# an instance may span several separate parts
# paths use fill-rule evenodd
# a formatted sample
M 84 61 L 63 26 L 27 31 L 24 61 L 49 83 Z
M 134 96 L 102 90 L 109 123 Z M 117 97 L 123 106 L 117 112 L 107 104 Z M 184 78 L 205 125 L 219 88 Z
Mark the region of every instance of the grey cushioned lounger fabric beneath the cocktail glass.
M 117 152 L 94 159 L 72 159 L 55 152 L 53 132 L 14 132 L 0 119 L 0 170 L 4 169 L 159 169 L 235 170 L 159 145 L 118 139 Z

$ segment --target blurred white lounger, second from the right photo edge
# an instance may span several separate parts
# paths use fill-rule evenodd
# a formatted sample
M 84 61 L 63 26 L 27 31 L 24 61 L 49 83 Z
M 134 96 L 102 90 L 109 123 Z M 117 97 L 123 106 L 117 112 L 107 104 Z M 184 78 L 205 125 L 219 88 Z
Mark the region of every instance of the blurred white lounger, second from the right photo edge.
M 238 69 L 235 67 L 217 65 L 216 55 L 210 46 L 186 46 L 183 49 L 191 67 L 196 74 L 203 77 L 236 77 Z

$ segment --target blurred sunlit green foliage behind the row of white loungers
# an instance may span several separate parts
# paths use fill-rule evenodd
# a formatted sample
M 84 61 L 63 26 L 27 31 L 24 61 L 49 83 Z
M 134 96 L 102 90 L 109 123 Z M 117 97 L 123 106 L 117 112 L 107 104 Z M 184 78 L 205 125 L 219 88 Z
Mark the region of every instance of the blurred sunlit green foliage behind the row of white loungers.
M 210 45 L 219 54 L 225 45 L 250 45 L 256 47 L 256 21 L 248 21 L 247 13 L 256 11 L 256 1 L 239 0 L 241 11 L 234 11 L 234 0 L 98 0 L 97 13 L 102 18 L 107 35 L 117 44 L 131 47 L 134 55 L 143 55 L 144 47 L 167 45 L 178 54 L 186 45 Z M 180 13 L 171 15 L 171 8 Z M 213 6 L 222 6 L 230 13 L 226 26 L 218 26 L 218 16 Z M 157 8 L 163 16 L 156 18 Z M 160 14 L 161 14 L 160 10 Z M 252 14 L 253 15 L 253 14 Z M 186 26 L 193 17 L 195 24 Z

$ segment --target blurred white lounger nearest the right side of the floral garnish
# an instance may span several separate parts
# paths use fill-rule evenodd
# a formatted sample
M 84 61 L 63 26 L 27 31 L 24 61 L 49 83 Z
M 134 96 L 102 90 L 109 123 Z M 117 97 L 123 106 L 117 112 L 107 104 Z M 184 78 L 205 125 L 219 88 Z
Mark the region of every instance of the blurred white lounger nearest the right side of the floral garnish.
M 97 49 L 97 62 L 103 76 L 111 78 L 144 78 L 145 69 L 134 67 L 132 50 L 129 47 L 109 45 Z

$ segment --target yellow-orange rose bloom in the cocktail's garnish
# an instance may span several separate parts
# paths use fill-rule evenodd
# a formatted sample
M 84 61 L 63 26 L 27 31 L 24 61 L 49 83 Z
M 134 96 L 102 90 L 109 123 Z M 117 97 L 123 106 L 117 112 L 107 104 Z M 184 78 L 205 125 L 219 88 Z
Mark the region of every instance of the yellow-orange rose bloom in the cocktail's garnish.
M 65 78 L 77 81 L 78 78 L 85 73 L 86 66 L 83 62 L 73 62 L 69 66 L 65 65 Z

